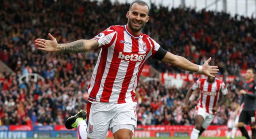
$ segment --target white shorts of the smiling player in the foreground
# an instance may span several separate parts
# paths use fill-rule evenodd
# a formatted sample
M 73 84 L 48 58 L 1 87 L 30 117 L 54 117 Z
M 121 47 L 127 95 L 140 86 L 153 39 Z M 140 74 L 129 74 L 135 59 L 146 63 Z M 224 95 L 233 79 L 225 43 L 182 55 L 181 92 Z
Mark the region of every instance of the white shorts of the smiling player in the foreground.
M 90 105 L 89 103 L 91 102 L 88 102 L 87 107 Z M 117 131 L 116 125 L 122 125 L 118 126 L 118 129 L 127 128 L 134 132 L 137 127 L 136 107 L 136 102 L 122 104 L 91 103 L 91 106 L 87 108 L 89 114 L 87 137 L 90 139 L 104 139 L 109 129 L 113 134 Z

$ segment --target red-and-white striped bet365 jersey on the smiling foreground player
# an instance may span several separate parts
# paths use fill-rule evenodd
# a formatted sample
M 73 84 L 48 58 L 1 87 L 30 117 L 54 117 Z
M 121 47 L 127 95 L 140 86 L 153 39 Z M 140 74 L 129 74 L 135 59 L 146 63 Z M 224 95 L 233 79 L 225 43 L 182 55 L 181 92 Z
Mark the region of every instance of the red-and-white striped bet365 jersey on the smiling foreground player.
M 91 76 L 90 101 L 133 102 L 145 61 L 160 45 L 146 34 L 134 36 L 125 26 L 110 26 L 93 39 L 101 51 Z

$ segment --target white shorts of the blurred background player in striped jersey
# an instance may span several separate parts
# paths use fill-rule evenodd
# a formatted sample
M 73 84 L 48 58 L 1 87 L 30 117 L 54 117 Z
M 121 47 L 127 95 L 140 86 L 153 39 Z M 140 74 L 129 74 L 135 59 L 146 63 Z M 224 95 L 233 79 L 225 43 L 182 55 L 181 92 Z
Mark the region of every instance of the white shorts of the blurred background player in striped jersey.
M 196 111 L 196 115 L 201 115 L 203 117 L 204 121 L 202 123 L 202 127 L 204 129 L 207 129 L 207 127 L 211 124 L 214 118 L 214 115 L 207 113 L 206 110 L 201 107 L 198 107 L 198 110 Z

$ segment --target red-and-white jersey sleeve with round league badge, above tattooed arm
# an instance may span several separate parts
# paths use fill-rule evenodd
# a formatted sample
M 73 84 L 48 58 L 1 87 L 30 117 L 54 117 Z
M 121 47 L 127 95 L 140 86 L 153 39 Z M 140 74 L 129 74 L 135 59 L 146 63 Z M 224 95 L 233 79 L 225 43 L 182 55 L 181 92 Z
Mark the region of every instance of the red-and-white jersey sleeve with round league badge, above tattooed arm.
M 93 39 L 97 40 L 99 43 L 98 47 L 101 47 L 101 46 L 110 46 L 110 44 L 113 43 L 115 38 L 116 38 L 116 31 L 114 31 L 113 29 L 110 29 L 109 27 L 105 31 L 95 36 Z

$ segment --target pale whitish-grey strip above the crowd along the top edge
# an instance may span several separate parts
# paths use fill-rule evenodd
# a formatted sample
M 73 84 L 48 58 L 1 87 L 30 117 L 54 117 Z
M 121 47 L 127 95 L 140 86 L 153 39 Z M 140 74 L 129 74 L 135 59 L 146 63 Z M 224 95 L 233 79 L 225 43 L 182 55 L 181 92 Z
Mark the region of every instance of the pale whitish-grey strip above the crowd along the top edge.
M 98 0 L 100 2 L 104 0 Z M 112 3 L 131 3 L 133 0 L 110 0 Z M 144 0 L 154 3 L 157 7 L 165 6 L 171 8 L 189 7 L 196 11 L 206 9 L 207 11 L 225 12 L 231 16 L 236 14 L 243 16 L 256 16 L 255 0 Z M 150 6 L 150 5 L 149 5 Z

